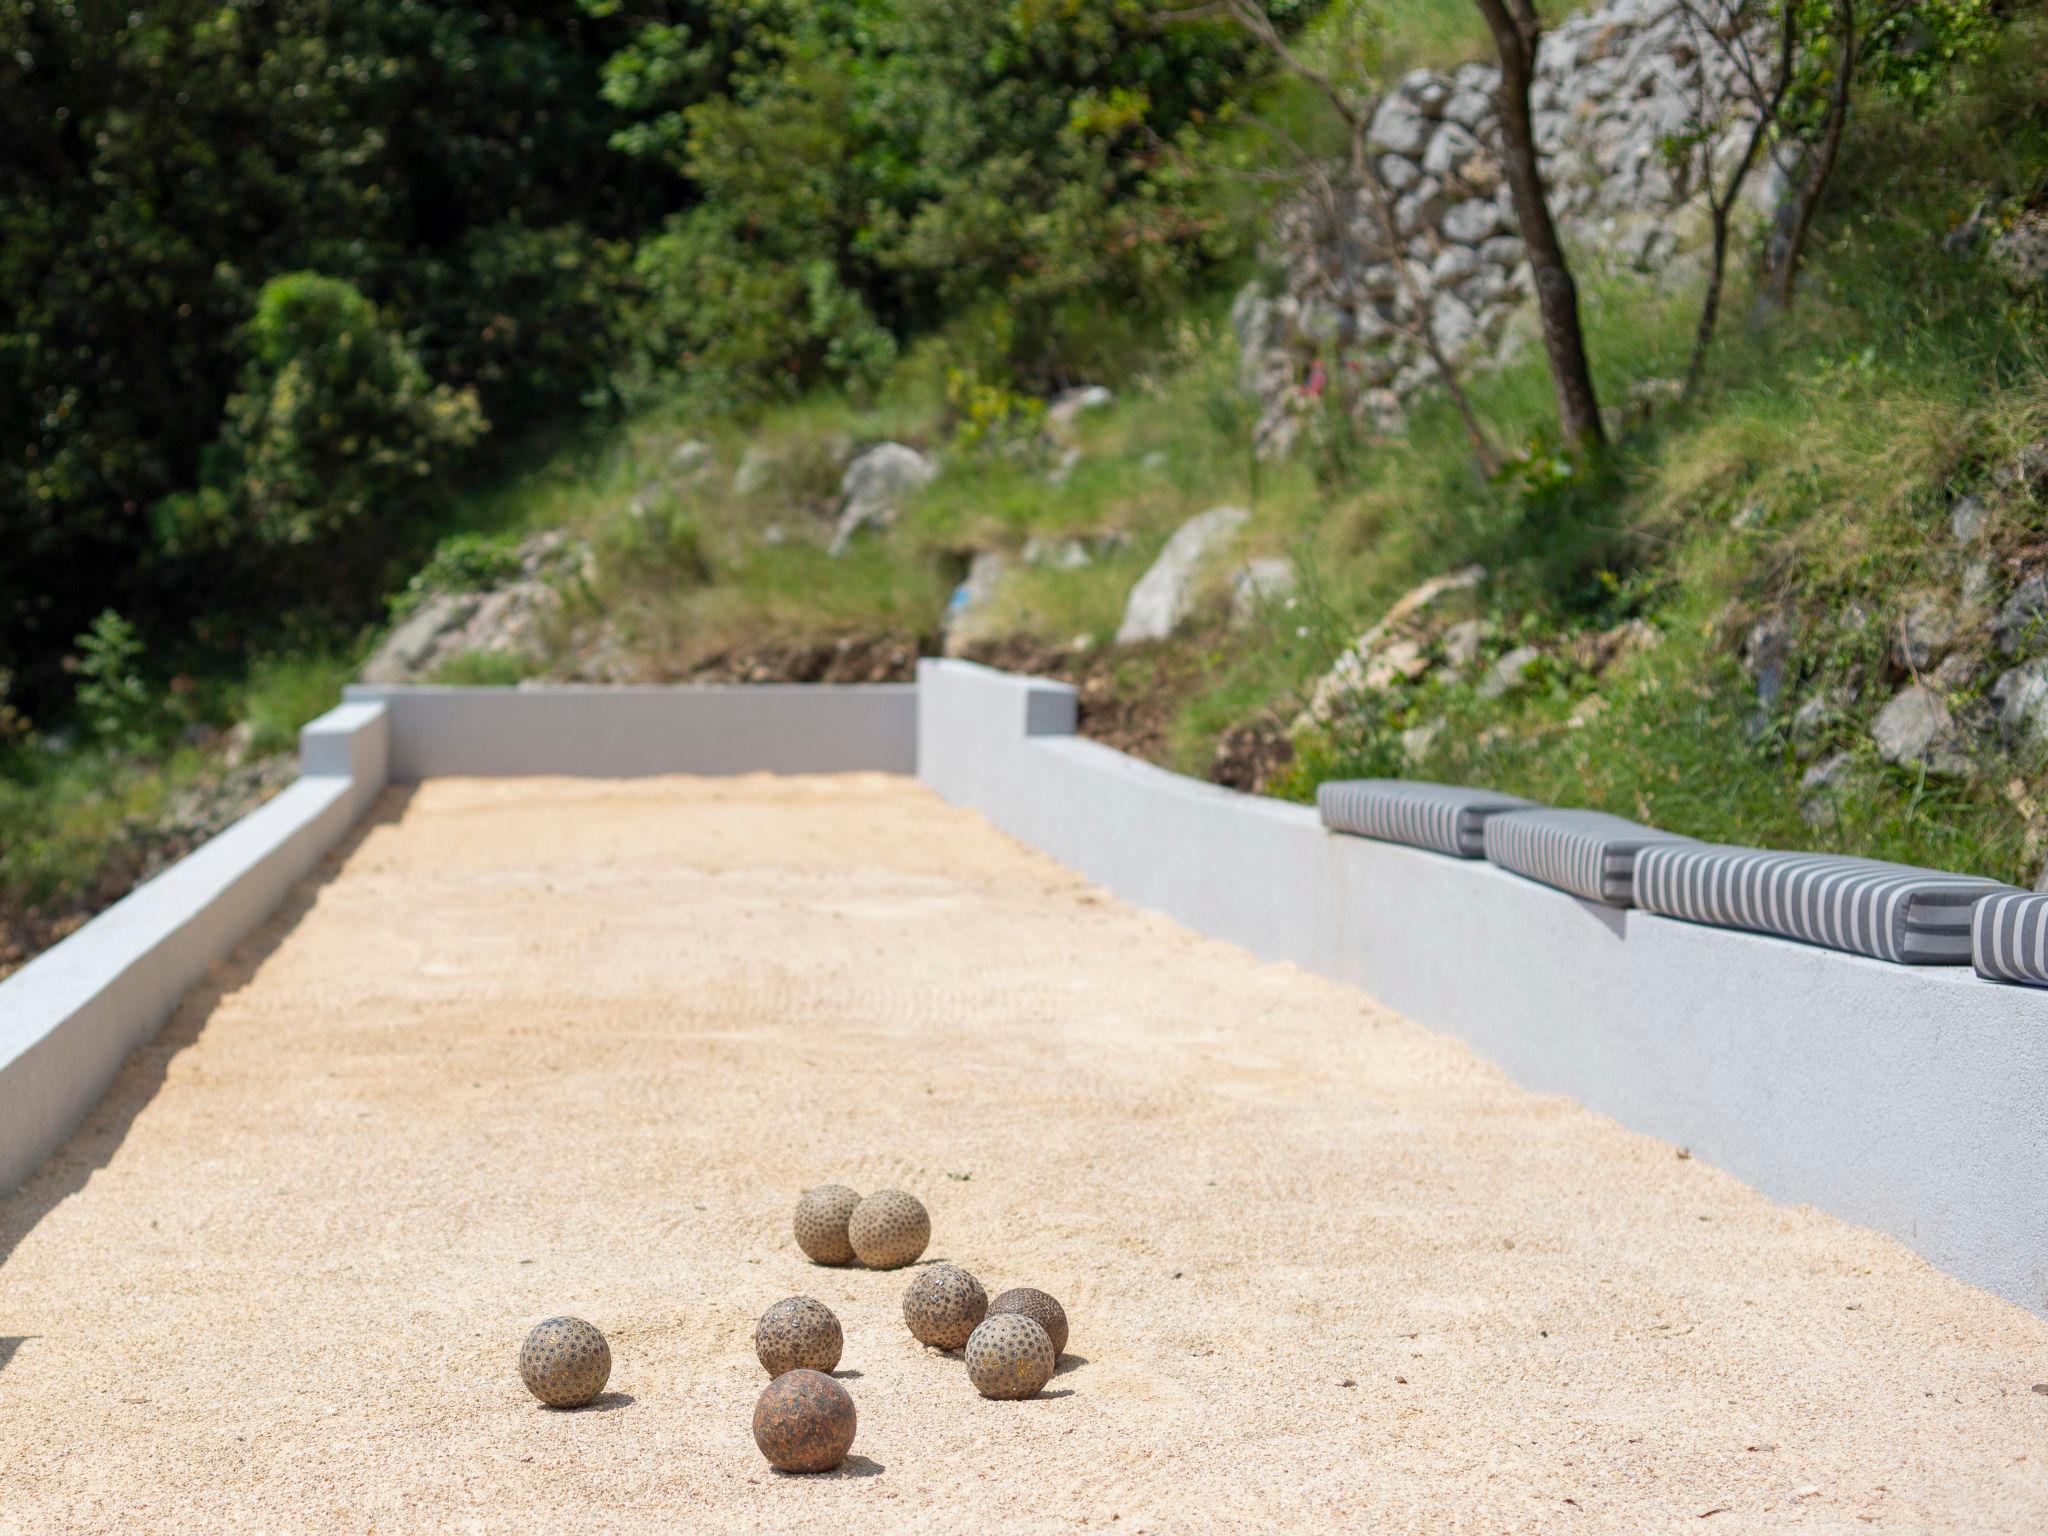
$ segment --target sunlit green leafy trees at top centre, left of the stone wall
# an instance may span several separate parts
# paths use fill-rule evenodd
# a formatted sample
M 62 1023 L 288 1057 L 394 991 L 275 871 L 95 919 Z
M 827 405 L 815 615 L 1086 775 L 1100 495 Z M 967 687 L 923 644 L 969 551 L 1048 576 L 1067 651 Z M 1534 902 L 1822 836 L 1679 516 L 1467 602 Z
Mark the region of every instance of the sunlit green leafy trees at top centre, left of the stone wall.
M 639 25 L 606 66 L 637 119 L 614 145 L 705 199 L 641 252 L 653 367 L 739 395 L 862 385 L 993 305 L 969 362 L 1053 381 L 1073 303 L 1116 313 L 1235 250 L 1161 152 L 1241 82 L 1227 25 L 1139 0 L 725 0 L 690 25 L 592 4 Z

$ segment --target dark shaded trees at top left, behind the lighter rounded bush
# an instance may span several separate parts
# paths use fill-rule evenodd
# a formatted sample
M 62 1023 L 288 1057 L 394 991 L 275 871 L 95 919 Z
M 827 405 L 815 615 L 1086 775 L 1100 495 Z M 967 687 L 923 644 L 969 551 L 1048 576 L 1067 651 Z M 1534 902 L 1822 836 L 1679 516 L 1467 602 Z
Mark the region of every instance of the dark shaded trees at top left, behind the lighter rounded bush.
M 500 426 L 602 393 L 625 242 L 686 201 L 608 147 L 627 39 L 575 0 L 0 6 L 0 666 L 25 707 L 61 713 L 104 606 L 221 655 L 291 602 L 377 610 L 371 580 L 156 545 L 268 279 L 350 283 Z

